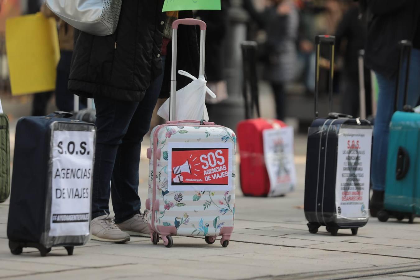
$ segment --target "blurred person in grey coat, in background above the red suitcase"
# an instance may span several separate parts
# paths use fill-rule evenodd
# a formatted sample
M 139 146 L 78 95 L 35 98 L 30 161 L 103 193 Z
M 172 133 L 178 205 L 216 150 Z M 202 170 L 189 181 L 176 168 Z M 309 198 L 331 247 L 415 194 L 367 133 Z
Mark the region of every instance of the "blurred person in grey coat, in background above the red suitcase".
M 262 13 L 257 12 L 252 2 L 245 0 L 245 8 L 260 28 L 267 33 L 265 43 L 264 77 L 271 83 L 276 100 L 278 120 L 284 120 L 287 82 L 294 79 L 297 68 L 296 42 L 299 28 L 299 13 L 291 0 L 269 0 Z

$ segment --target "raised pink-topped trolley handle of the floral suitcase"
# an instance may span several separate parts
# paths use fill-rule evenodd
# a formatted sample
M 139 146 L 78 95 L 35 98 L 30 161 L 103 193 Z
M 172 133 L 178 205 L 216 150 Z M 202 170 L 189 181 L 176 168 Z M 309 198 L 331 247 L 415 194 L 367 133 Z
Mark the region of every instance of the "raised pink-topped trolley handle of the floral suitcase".
M 171 73 L 171 95 L 169 97 L 169 120 L 175 119 L 176 108 L 176 55 L 178 53 L 178 26 L 198 25 L 200 26 L 200 66 L 199 75 L 204 75 L 205 67 L 205 45 L 207 25 L 204 21 L 194 18 L 177 19 L 172 24 L 172 73 Z

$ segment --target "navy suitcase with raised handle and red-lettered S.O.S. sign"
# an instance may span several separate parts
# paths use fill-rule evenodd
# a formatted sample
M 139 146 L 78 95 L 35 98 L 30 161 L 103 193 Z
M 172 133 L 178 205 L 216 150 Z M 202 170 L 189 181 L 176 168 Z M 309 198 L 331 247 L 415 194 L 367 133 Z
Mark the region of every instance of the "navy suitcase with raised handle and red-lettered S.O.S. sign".
M 353 234 L 369 218 L 370 153 L 373 128 L 367 120 L 329 113 L 318 118 L 320 44 L 330 46 L 329 101 L 332 107 L 335 37 L 321 35 L 316 44 L 315 120 L 308 132 L 304 212 L 310 233 L 320 226 L 337 235 Z M 357 93 L 355 93 L 357 94 Z

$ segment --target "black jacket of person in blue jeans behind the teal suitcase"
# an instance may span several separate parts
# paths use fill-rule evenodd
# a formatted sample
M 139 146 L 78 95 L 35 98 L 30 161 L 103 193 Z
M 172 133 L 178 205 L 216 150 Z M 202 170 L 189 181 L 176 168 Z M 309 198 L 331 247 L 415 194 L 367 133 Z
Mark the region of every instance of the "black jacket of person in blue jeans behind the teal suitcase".
M 366 66 L 391 79 L 398 69 L 398 42 L 413 40 L 419 26 L 419 0 L 367 0 Z

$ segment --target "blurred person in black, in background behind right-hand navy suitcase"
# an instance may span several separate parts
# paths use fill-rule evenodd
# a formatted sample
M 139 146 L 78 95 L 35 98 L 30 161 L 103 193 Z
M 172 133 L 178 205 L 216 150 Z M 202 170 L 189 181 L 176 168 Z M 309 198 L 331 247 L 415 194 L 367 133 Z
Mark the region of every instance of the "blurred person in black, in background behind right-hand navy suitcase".
M 360 19 L 360 8 L 357 2 L 352 3 L 344 13 L 336 30 L 336 49 L 338 54 L 344 55 L 344 67 L 341 76 L 341 113 L 359 116 L 359 65 L 358 54 L 365 47 L 366 27 Z M 343 49 L 344 41 L 346 46 Z M 370 105 L 370 71 L 365 74 L 367 115 L 372 114 Z

